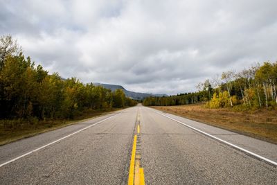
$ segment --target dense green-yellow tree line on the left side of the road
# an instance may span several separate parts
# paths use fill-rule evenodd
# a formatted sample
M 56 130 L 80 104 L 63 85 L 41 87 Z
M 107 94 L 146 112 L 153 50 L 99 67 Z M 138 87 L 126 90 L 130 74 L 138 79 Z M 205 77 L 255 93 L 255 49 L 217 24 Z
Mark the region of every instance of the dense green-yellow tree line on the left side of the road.
M 49 74 L 25 58 L 10 35 L 0 37 L 0 118 L 71 119 L 84 112 L 136 105 L 121 89 L 111 91 L 77 78 Z

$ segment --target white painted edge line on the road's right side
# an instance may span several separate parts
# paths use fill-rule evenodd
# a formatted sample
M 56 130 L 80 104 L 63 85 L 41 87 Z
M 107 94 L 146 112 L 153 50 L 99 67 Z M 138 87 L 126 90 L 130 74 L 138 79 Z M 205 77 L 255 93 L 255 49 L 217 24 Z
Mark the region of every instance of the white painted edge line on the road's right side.
M 159 112 L 157 112 L 157 111 L 154 111 L 154 112 L 156 112 L 157 114 L 160 114 L 161 116 L 165 116 L 165 117 L 167 117 L 167 118 L 170 118 L 170 116 L 166 116 L 165 114 L 161 114 L 161 113 L 159 113 Z M 243 152 L 246 152 L 246 153 L 248 153 L 249 155 L 253 155 L 253 156 L 255 156 L 255 157 L 259 158 L 259 159 L 262 159 L 262 160 L 264 160 L 264 161 L 269 162 L 270 164 L 274 164 L 275 166 L 277 166 L 277 162 L 275 162 L 275 161 L 272 161 L 272 160 L 270 160 L 270 159 L 267 159 L 267 158 L 265 158 L 265 157 L 262 157 L 262 156 L 260 156 L 260 155 L 257 155 L 256 153 L 253 153 L 253 152 L 251 152 L 251 151 L 249 151 L 249 150 L 246 150 L 246 149 L 244 149 L 244 148 L 241 148 L 241 147 L 239 147 L 239 146 L 236 146 L 236 145 L 234 145 L 234 144 L 232 144 L 232 143 L 229 143 L 228 141 L 224 141 L 223 139 L 220 139 L 220 138 L 218 138 L 218 137 L 216 137 L 216 136 L 213 136 L 213 135 L 211 135 L 211 134 L 208 134 L 208 133 L 206 133 L 206 132 L 203 132 L 202 130 L 199 130 L 199 129 L 195 128 L 195 127 L 192 127 L 192 126 L 190 126 L 190 125 L 187 125 L 186 123 L 183 123 L 183 122 L 181 122 L 181 121 L 178 121 L 178 120 L 176 120 L 175 118 L 170 118 L 170 119 L 173 120 L 173 121 L 176 121 L 176 122 L 180 123 L 181 125 L 185 125 L 186 127 L 189 127 L 189 128 L 191 128 L 191 129 L 193 129 L 193 130 L 195 130 L 195 131 L 197 131 L 197 132 L 200 132 L 200 133 L 202 133 L 202 134 L 204 134 L 204 135 L 206 135 L 206 136 L 209 136 L 209 137 L 211 137 L 211 138 L 213 138 L 213 139 L 216 139 L 216 140 L 218 140 L 218 141 L 221 141 L 222 143 L 226 143 L 227 145 L 232 146 L 233 148 L 237 148 L 238 150 L 242 150 Z

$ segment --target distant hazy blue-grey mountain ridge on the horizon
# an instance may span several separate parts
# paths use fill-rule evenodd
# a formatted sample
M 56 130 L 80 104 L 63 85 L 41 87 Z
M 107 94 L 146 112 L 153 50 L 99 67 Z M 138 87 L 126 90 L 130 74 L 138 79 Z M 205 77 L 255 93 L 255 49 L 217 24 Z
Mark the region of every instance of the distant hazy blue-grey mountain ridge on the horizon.
M 93 83 L 93 85 L 102 86 L 102 87 L 105 87 L 106 89 L 111 89 L 111 91 L 115 91 L 116 89 L 122 89 L 127 97 L 132 98 L 134 100 L 143 100 L 144 98 L 147 98 L 149 96 L 159 96 L 159 97 L 167 96 L 166 94 L 147 94 L 147 93 L 128 91 L 121 85 L 111 85 L 111 84 L 102 84 L 102 83 Z

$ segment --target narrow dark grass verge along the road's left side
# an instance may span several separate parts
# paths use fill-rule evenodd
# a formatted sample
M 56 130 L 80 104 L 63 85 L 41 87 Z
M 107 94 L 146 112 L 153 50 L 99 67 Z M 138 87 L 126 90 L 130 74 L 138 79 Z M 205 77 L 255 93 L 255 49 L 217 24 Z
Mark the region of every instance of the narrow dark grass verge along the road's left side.
M 44 132 L 49 132 L 51 130 L 56 130 L 61 127 L 73 125 L 80 121 L 102 116 L 116 110 L 118 109 L 112 109 L 105 112 L 87 112 L 82 116 L 78 116 L 78 118 L 75 118 L 74 120 L 33 121 L 31 124 L 28 123 L 28 121 L 0 120 L 0 146 L 17 141 L 19 139 L 24 139 L 37 134 L 42 134 Z

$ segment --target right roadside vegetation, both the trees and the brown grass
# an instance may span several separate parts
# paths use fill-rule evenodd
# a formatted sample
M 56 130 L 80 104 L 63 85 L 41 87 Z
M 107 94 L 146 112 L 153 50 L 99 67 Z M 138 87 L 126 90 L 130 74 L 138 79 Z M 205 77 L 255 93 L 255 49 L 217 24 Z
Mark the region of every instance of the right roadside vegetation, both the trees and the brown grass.
M 201 82 L 194 93 L 145 98 L 143 105 L 277 143 L 276 85 L 277 62 L 264 62 Z

